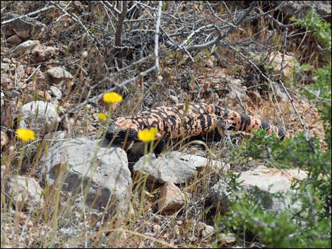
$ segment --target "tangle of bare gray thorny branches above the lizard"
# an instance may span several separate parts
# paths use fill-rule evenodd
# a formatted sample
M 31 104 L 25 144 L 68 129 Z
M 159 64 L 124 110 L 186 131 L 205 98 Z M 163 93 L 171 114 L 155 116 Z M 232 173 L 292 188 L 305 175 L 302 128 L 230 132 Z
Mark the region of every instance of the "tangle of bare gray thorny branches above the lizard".
M 266 18 L 269 21 L 271 20 L 271 23 L 277 27 L 285 30 L 283 60 L 281 62 L 281 71 L 277 80 L 286 92 L 293 109 L 295 109 L 297 116 L 299 116 L 302 127 L 305 129 L 300 113 L 297 111 L 292 98 L 280 78 L 283 71 L 286 49 L 285 43 L 287 43 L 287 37 L 291 36 L 288 35 L 288 31 L 294 27 L 292 24 L 285 25 L 281 23 L 280 20 L 273 17 L 272 13 L 273 11 L 280 9 L 284 3 L 280 3 L 276 5 L 275 8 L 270 8 L 268 11 L 264 12 L 261 10 L 258 1 L 253 1 L 247 9 L 236 8 L 234 11 L 231 11 L 231 8 L 228 8 L 227 2 L 225 1 L 223 1 L 223 3 L 201 1 L 198 3 L 201 8 L 200 10 L 202 10 L 202 14 L 200 15 L 195 11 L 186 11 L 185 14 L 182 11 L 182 8 L 184 7 L 189 9 L 192 8 L 197 4 L 196 2 L 167 1 L 166 4 L 164 2 L 165 9 L 162 10 L 162 1 L 154 3 L 146 3 L 143 1 L 115 1 L 113 3 L 110 1 L 93 1 L 93 4 L 99 4 L 103 9 L 102 11 L 104 11 L 107 16 L 107 18 L 105 18 L 105 23 L 101 22 L 98 24 L 86 21 L 83 18 L 84 14 L 77 15 L 73 11 L 69 11 L 72 3 L 69 3 L 65 7 L 57 4 L 55 1 L 50 1 L 50 3 L 52 6 L 45 6 L 45 8 L 41 8 L 38 11 L 17 18 L 12 18 L 11 20 L 5 20 L 1 25 L 11 23 L 18 18 L 32 16 L 56 7 L 61 13 L 63 13 L 63 16 L 69 16 L 74 23 L 78 23 L 79 27 L 83 28 L 83 33 L 85 32 L 85 37 L 87 37 L 86 39 L 92 41 L 92 44 L 98 51 L 98 54 L 100 54 L 100 57 L 104 59 L 105 62 L 103 63 L 107 72 L 102 78 L 94 80 L 96 83 L 90 86 L 88 98 L 77 104 L 76 107 L 70 109 L 68 111 L 69 113 L 76 111 L 89 102 L 99 99 L 104 92 L 118 90 L 144 75 L 153 73 L 156 73 L 157 75 L 160 74 L 160 55 L 165 54 L 167 49 L 182 51 L 186 53 L 191 61 L 194 61 L 194 55 L 191 53 L 198 53 L 198 51 L 212 47 L 213 45 L 217 47 L 222 46 L 225 49 L 231 49 L 232 51 L 235 51 L 236 54 L 239 54 L 245 62 L 249 62 L 259 75 L 271 85 L 271 89 L 274 90 L 275 80 L 273 76 L 263 73 L 259 69 L 259 66 L 257 66 L 256 63 L 250 59 L 250 56 L 246 54 L 247 51 L 251 51 L 252 48 L 257 47 L 257 51 L 277 49 L 277 47 L 270 46 L 269 44 L 261 44 L 259 42 L 257 38 L 262 31 L 256 32 L 256 34 L 248 39 L 237 41 L 234 44 L 227 40 L 227 37 L 232 34 L 235 29 L 245 31 L 240 27 L 243 23 L 257 20 L 259 18 Z M 220 4 L 223 4 L 225 7 L 225 13 L 215 11 L 215 7 L 218 7 Z M 205 10 L 208 11 L 208 13 L 211 13 L 211 15 L 208 16 L 206 13 L 203 14 L 203 11 Z M 80 37 L 80 35 L 77 37 Z M 75 39 L 76 38 L 73 38 L 73 41 L 75 41 Z M 165 46 L 160 46 L 161 44 L 164 44 Z M 107 56 L 114 56 L 114 60 L 111 59 L 108 61 L 114 61 L 117 63 L 117 55 L 119 55 L 117 54 L 117 51 L 120 49 L 130 51 L 132 53 L 132 58 L 121 58 L 121 68 L 119 68 L 117 64 L 107 63 Z M 151 53 L 152 50 L 153 56 Z M 150 63 L 150 59 L 152 58 L 155 59 L 153 64 Z M 144 66 L 142 66 L 143 64 Z M 133 75 L 134 68 L 135 75 Z M 114 77 L 117 77 L 117 75 L 120 74 L 126 74 L 129 75 L 129 77 L 127 77 L 126 80 L 122 80 L 121 83 L 114 83 Z M 102 92 L 93 92 L 97 91 L 99 85 L 109 83 L 112 83 L 112 86 L 105 87 Z M 278 109 L 280 112 L 280 119 L 283 121 L 281 110 L 279 107 Z

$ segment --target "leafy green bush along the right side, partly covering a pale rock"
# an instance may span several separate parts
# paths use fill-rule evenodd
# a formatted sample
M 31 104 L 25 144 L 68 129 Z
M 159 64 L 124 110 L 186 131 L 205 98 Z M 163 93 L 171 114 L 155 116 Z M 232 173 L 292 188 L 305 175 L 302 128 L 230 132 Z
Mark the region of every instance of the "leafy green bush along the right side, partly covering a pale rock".
M 307 133 L 280 142 L 264 130 L 257 131 L 255 138 L 244 142 L 230 158 L 236 162 L 249 157 L 263 159 L 265 164 L 307 171 L 306 179 L 292 184 L 297 190 L 292 201 L 300 200 L 300 212 L 285 209 L 275 215 L 250 193 L 238 195 L 240 187 L 232 176 L 230 211 L 218 219 L 218 226 L 227 232 L 237 231 L 239 240 L 244 235 L 249 242 L 258 238 L 268 248 L 331 248 L 331 28 L 314 13 L 297 24 L 312 30 L 328 51 L 329 63 L 315 71 L 316 83 L 309 86 L 308 96 L 315 98 L 321 112 L 327 148 L 321 149 L 319 140 Z

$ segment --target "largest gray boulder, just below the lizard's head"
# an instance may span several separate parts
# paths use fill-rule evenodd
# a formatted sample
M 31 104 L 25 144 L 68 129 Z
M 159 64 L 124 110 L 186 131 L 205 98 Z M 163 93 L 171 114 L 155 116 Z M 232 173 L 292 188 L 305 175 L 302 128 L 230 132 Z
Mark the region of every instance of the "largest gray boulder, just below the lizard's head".
M 85 138 L 58 142 L 42 156 L 38 172 L 48 184 L 61 181 L 63 190 L 73 195 L 81 196 L 85 190 L 85 203 L 94 209 L 109 205 L 110 213 L 124 214 L 131 200 L 126 152 L 119 147 L 99 147 L 99 143 Z

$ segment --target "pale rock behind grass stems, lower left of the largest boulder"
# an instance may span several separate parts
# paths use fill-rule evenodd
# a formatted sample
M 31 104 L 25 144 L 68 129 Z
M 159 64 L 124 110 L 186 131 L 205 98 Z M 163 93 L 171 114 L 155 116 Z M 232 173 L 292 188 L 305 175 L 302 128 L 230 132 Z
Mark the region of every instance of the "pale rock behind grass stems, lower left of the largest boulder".
M 42 188 L 34 178 L 12 176 L 8 181 L 8 196 L 11 196 L 16 207 L 26 209 L 41 207 L 44 203 Z

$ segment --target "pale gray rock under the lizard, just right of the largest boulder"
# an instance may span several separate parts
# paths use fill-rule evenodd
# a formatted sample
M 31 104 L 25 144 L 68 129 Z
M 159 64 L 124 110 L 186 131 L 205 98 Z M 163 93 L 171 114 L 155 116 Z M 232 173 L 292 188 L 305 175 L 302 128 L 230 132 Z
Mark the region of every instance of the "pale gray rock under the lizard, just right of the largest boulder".
M 196 166 L 180 159 L 179 154 L 181 153 L 170 152 L 158 158 L 154 154 L 146 154 L 136 162 L 134 172 L 148 174 L 149 181 L 185 183 L 194 176 Z

